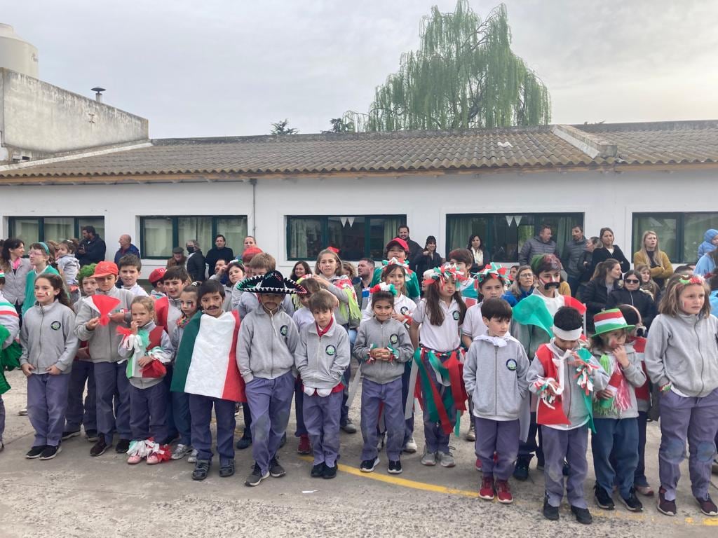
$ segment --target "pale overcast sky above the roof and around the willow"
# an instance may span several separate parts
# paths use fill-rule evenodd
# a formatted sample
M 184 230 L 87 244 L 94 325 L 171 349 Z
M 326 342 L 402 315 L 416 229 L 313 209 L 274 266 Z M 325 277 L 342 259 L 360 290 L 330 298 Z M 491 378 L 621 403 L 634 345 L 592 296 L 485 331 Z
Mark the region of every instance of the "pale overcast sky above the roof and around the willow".
M 24 0 L 0 22 L 39 49 L 42 80 L 149 119 L 153 138 L 302 133 L 366 112 L 455 0 Z M 497 1 L 472 0 L 482 17 Z M 718 0 L 508 0 L 513 51 L 552 123 L 718 118 Z

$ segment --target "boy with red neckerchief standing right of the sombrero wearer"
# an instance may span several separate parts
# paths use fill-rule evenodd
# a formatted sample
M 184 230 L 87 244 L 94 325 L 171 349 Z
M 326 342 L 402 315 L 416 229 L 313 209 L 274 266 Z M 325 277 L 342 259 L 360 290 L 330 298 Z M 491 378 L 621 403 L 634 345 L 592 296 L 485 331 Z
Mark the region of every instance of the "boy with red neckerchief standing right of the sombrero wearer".
M 314 324 L 304 326 L 299 334 L 294 364 L 302 376 L 304 426 L 314 448 L 311 476 L 334 478 L 339 457 L 342 374 L 349 366 L 350 357 L 349 337 L 334 321 L 331 293 L 325 290 L 312 293 L 309 309 L 314 315 Z

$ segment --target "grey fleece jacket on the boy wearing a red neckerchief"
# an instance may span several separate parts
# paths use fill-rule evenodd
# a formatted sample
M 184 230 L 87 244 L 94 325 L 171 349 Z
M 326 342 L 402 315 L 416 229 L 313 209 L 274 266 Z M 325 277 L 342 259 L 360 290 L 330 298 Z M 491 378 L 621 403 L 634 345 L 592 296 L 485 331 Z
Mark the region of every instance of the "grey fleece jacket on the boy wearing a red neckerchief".
M 336 321 L 332 321 L 329 331 L 322 336 L 319 336 L 315 323 L 305 326 L 299 333 L 294 365 L 305 387 L 333 389 L 342 380 L 349 359 L 349 336 Z

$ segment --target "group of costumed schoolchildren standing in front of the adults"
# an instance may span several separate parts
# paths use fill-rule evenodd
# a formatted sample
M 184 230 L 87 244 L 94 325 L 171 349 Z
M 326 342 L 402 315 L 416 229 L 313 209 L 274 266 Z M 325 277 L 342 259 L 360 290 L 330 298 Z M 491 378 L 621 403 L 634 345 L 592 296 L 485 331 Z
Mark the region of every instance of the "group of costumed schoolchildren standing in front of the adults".
M 95 443 L 91 456 L 108 450 L 117 433 L 116 451 L 128 463 L 188 456 L 192 478 L 202 480 L 213 458 L 214 410 L 219 473 L 232 476 L 241 402 L 245 442 L 238 447 L 252 447 L 245 483 L 257 486 L 286 474 L 278 450 L 294 397 L 299 452 L 313 453 L 312 477 L 334 478 L 340 428 L 360 384 L 360 471 L 374 471 L 386 445 L 388 473 L 402 472 L 401 453 L 416 451 L 415 400 L 424 419 L 421 464 L 455 466 L 449 436 L 468 411 L 481 499 L 512 502 L 509 478 L 526 479 L 535 453 L 544 469 L 544 516 L 559 519 L 565 487 L 572 513 L 587 524 L 589 430 L 597 505 L 614 509 L 617 489 L 629 510 L 640 511 L 636 493 L 653 495 L 644 466 L 650 378 L 661 412 L 658 509 L 676 514 L 687 441 L 694 497 L 704 514 L 718 515 L 708 494 L 718 319 L 700 277 L 671 278 L 647 340 L 638 336 L 640 314 L 626 305 L 598 313 L 586 339 L 585 308 L 559 293 L 561 263 L 553 255 L 532 260 L 533 291 L 512 308 L 501 298 L 510 285 L 505 268 L 490 264 L 472 275 L 470 253 L 455 250 L 419 279 L 396 238 L 363 312 L 332 249 L 298 281 L 261 252 L 201 284 L 190 284 L 182 267 L 155 270 L 150 296 L 136 282 L 139 259 L 126 256 L 78 272 L 83 297 L 73 311 L 72 288 L 37 263 L 49 254 L 42 245 L 30 249 L 34 303 L 19 331 L 36 432 L 27 458 L 54 458 L 61 440 L 84 425 Z M 1 301 L 0 327 L 9 365 L 18 319 Z M 352 357 L 359 368 L 350 382 Z

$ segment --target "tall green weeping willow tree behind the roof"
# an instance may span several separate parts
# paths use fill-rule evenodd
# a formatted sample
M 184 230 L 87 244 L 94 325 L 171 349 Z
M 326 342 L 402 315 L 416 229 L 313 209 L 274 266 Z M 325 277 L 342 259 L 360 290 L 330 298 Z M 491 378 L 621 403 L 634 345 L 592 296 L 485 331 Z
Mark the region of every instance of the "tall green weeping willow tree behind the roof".
M 367 131 L 549 123 L 549 91 L 510 44 L 503 4 L 483 21 L 467 0 L 453 13 L 434 6 L 422 19 L 419 50 L 401 56 L 358 123 Z

